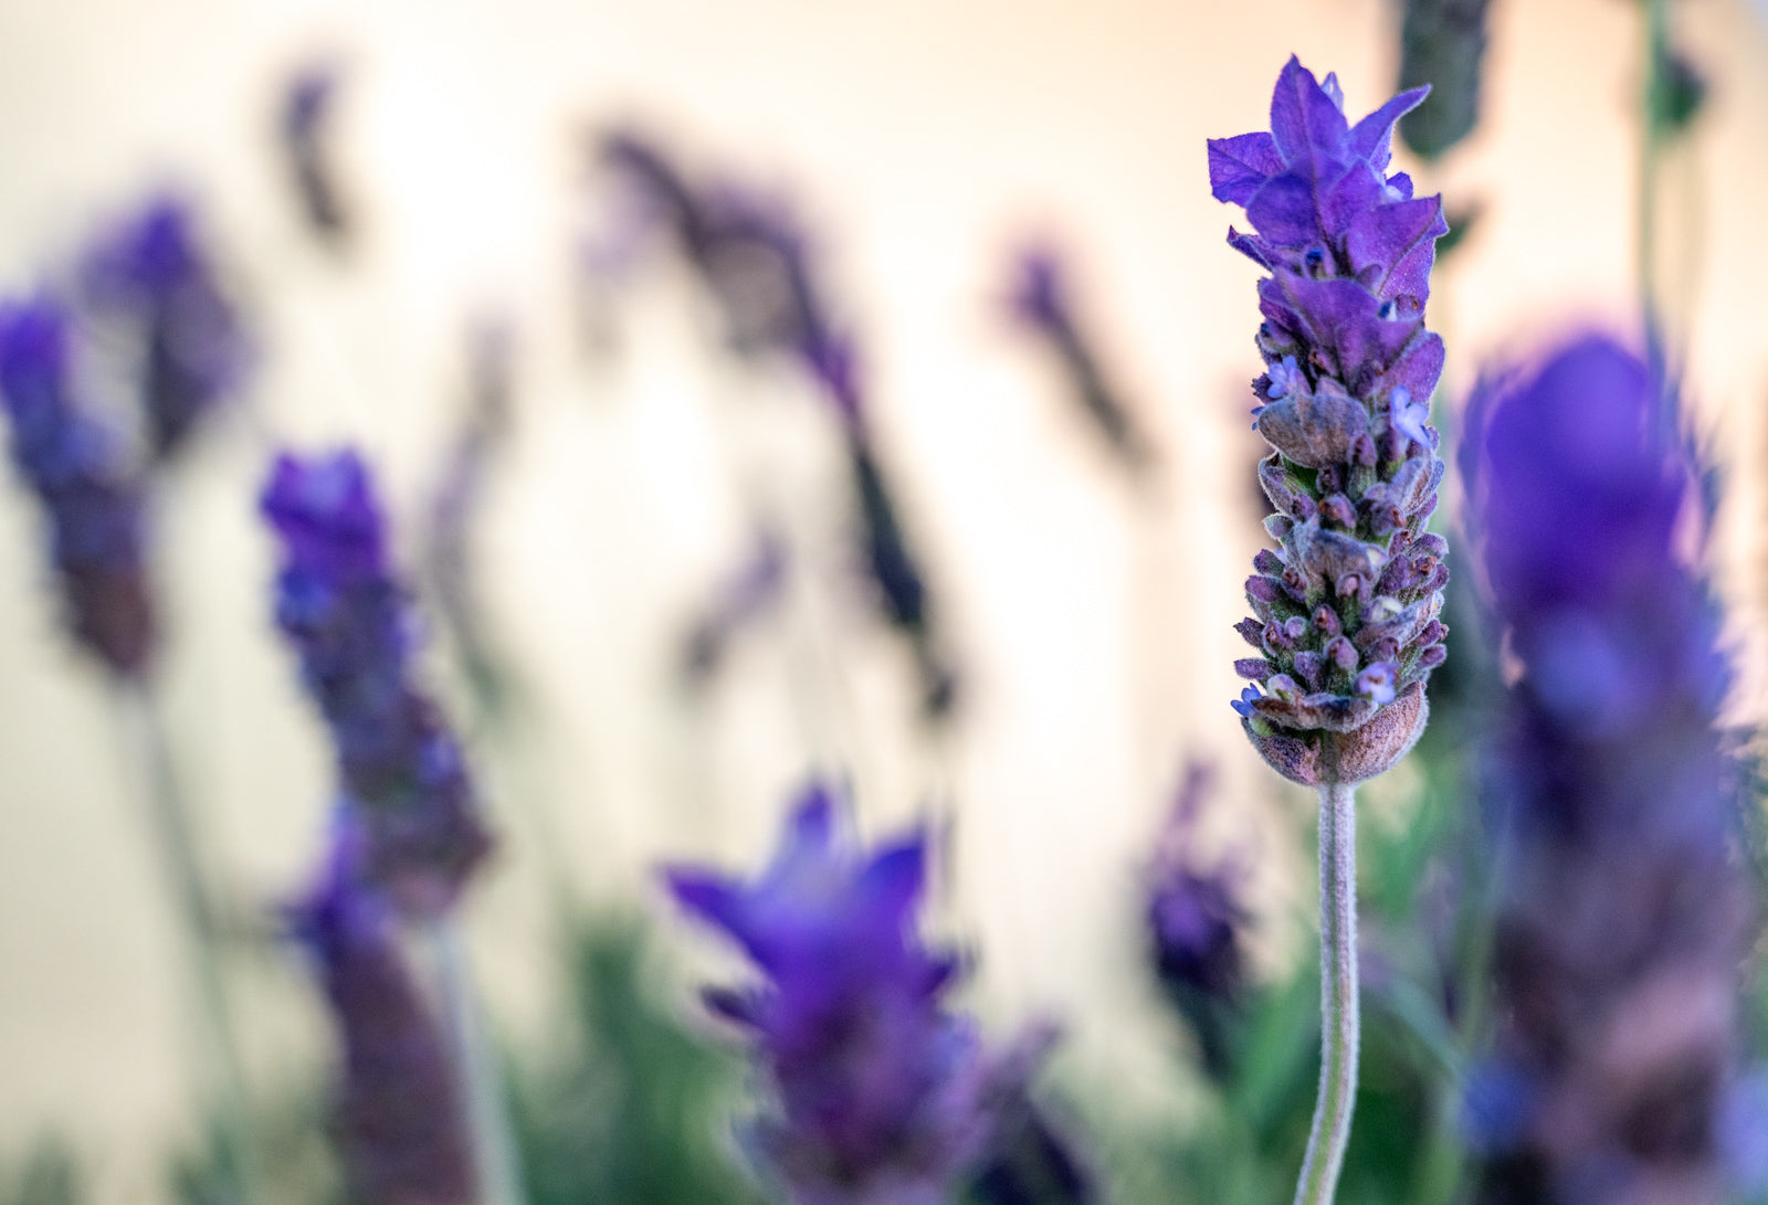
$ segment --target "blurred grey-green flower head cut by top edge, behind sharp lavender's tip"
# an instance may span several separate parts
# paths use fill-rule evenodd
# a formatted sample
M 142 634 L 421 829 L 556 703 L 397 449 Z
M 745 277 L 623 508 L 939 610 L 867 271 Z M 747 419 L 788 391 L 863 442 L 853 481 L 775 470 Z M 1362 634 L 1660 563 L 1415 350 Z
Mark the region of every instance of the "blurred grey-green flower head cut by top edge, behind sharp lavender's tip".
M 1429 85 L 1430 97 L 1400 118 L 1400 138 L 1436 159 L 1480 120 L 1485 11 L 1492 0 L 1406 0 L 1400 88 Z

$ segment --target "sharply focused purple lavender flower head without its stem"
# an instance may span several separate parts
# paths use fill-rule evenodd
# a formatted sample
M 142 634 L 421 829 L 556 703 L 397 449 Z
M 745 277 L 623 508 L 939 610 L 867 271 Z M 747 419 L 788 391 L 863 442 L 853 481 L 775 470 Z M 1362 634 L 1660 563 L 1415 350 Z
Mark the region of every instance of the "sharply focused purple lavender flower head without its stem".
M 1443 663 L 1446 546 L 1425 534 L 1443 461 L 1429 399 L 1443 341 L 1425 330 L 1441 198 L 1386 175 L 1402 94 L 1351 125 L 1338 81 L 1294 58 L 1271 97 L 1271 133 L 1209 141 L 1209 184 L 1257 233 L 1229 244 L 1259 281 L 1254 382 L 1271 454 L 1259 481 L 1276 509 L 1246 581 L 1257 648 L 1234 705 L 1264 758 L 1307 784 L 1356 783 L 1423 730 L 1423 684 Z M 1261 689 L 1262 687 L 1262 689 Z

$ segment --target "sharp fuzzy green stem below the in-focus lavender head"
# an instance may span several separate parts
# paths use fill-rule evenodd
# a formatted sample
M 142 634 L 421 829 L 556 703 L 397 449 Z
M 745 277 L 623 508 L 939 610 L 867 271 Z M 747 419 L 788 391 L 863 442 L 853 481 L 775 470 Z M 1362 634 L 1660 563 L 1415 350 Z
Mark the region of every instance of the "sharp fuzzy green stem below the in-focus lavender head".
M 1356 1108 L 1356 788 L 1321 788 L 1321 1092 L 1296 1205 L 1331 1205 Z

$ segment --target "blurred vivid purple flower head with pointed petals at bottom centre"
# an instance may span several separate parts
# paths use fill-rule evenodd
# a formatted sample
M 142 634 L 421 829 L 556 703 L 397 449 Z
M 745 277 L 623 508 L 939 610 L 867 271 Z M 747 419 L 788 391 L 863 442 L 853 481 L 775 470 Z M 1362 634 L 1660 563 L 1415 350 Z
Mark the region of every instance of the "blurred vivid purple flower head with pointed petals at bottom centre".
M 925 834 L 854 850 L 812 786 L 758 880 L 667 873 L 764 975 L 707 1004 L 755 1037 L 778 1099 L 758 1143 L 794 1201 L 948 1200 L 987 1136 L 979 1039 L 942 1002 L 958 965 L 914 933 L 925 871 Z

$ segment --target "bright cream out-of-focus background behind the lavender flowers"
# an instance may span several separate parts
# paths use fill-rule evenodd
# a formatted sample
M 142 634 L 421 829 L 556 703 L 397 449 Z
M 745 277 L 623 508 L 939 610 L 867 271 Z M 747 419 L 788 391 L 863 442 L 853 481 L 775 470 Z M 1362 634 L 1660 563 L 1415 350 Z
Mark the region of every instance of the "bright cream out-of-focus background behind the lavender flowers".
M 1568 315 L 1625 320 L 1634 279 L 1635 5 L 1494 9 L 1487 120 L 1427 175 L 1489 205 L 1434 300 L 1455 385 Z M 1665 256 L 1692 299 L 1676 313 L 1697 316 L 1703 415 L 1736 466 L 1736 594 L 1763 551 L 1768 42 L 1738 4 L 1687 0 L 1681 23 L 1715 102 L 1687 155 L 1699 187 L 1667 198 Z M 361 440 L 410 530 L 458 408 L 460 334 L 507 313 L 520 435 L 481 527 L 486 597 L 545 726 L 537 770 L 483 749 L 509 839 L 472 924 L 500 1023 L 545 1018 L 534 827 L 513 799 L 546 809 L 587 892 L 654 906 L 659 857 L 753 866 L 812 760 L 842 760 L 870 832 L 955 806 L 941 926 L 981 959 L 976 1005 L 1001 1027 L 1055 1011 L 1071 1074 L 1165 1099 L 1147 1051 L 1170 1035 L 1142 1007 L 1132 910 L 1181 751 L 1225 763 L 1216 822 L 1259 855 L 1273 958 L 1301 906 L 1296 800 L 1250 763 L 1225 705 L 1255 535 L 1255 272 L 1222 242 L 1202 140 L 1264 124 L 1291 49 L 1367 111 L 1390 92 L 1391 42 L 1374 0 L 0 4 L 0 283 L 28 284 L 103 212 L 179 180 L 210 203 L 262 320 L 255 417 L 216 433 L 161 507 L 180 758 L 240 889 L 269 903 L 299 885 L 329 779 L 267 622 L 251 498 L 272 433 Z M 316 49 L 350 65 L 343 150 L 370 239 L 345 270 L 302 239 L 269 141 L 281 72 Z M 891 643 L 827 588 L 850 553 L 815 401 L 709 362 L 679 274 L 621 309 L 619 360 L 573 343 L 582 131 L 622 117 L 790 189 L 819 231 L 971 687 L 944 749 L 916 737 Z M 1004 254 L 1043 226 L 1080 254 L 1091 325 L 1167 452 L 1153 496 L 1109 474 L 999 316 Z M 62 1129 L 101 1157 L 106 1198 L 150 1200 L 149 1154 L 187 1090 L 179 945 L 101 682 L 57 633 L 37 516 L 5 482 L 0 1159 Z M 758 495 L 794 516 L 824 587 L 808 622 L 684 707 L 663 684 L 674 640 Z M 803 670 L 817 663 L 840 673 Z M 265 1083 L 316 1032 L 283 975 L 251 997 Z

